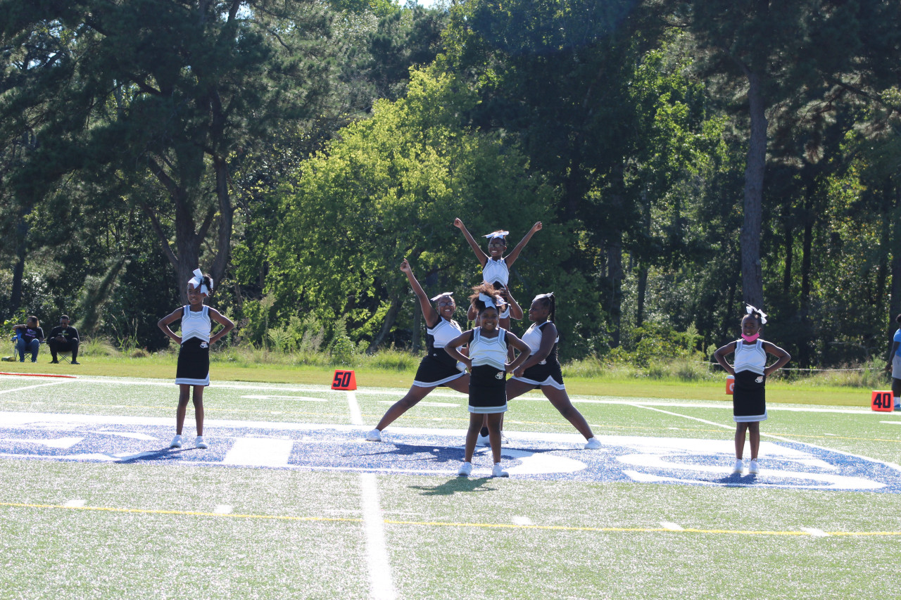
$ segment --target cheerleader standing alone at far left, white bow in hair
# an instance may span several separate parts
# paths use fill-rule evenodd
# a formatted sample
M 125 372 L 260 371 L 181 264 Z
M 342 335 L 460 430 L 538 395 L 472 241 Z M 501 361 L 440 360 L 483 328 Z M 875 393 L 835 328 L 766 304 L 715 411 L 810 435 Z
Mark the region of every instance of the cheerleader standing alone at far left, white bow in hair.
M 210 385 L 210 346 L 234 329 L 234 323 L 214 308 L 204 305 L 213 292 L 213 279 L 199 268 L 187 282 L 187 306 L 177 308 L 159 320 L 159 329 L 179 344 L 175 382 L 178 384 L 178 408 L 175 416 L 175 437 L 169 448 L 181 448 L 181 430 L 185 424 L 187 400 L 194 387 L 194 415 L 197 421 L 197 448 L 209 448 L 204 441 L 204 387 Z M 181 336 L 169 325 L 181 319 Z M 223 326 L 214 336 L 212 322 Z

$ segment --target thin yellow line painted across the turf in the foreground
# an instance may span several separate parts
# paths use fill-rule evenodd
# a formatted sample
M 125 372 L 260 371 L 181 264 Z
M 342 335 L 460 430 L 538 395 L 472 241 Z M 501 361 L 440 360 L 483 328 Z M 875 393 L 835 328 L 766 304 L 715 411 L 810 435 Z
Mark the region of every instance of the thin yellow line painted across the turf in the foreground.
M 177 511 L 150 508 L 115 508 L 113 506 L 65 506 L 65 505 L 32 505 L 19 502 L 0 502 L 0 506 L 14 508 L 52 508 L 70 511 L 92 511 L 102 513 L 130 513 L 130 514 L 177 514 L 184 516 L 206 516 L 231 519 L 260 519 L 272 521 L 305 521 L 320 523 L 363 523 L 363 519 L 351 517 L 319 517 L 319 516 L 291 516 L 283 514 L 221 514 L 204 513 L 200 511 Z M 449 521 L 393 521 L 385 519 L 387 525 L 413 525 L 419 527 L 470 527 L 478 529 L 512 529 L 512 530 L 539 530 L 549 532 L 604 532 L 604 533 L 718 533 L 730 535 L 779 535 L 779 536 L 813 536 L 810 532 L 776 532 L 768 530 L 736 530 L 736 529 L 696 529 L 685 528 L 682 530 L 666 529 L 663 527 L 574 527 L 569 525 L 517 525 L 515 523 L 454 523 Z M 855 536 L 895 536 L 901 532 L 824 532 L 826 535 L 844 537 Z

